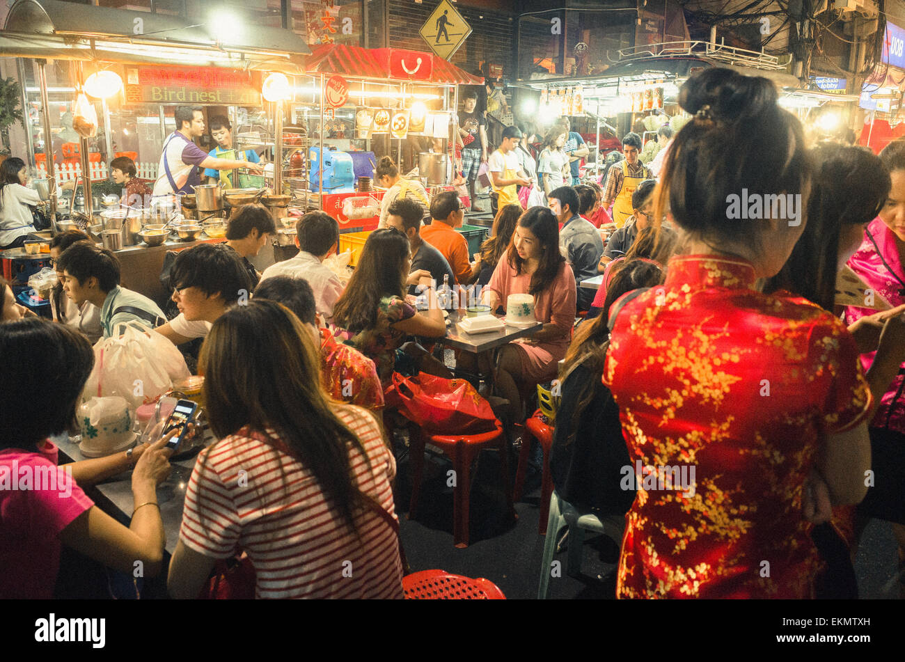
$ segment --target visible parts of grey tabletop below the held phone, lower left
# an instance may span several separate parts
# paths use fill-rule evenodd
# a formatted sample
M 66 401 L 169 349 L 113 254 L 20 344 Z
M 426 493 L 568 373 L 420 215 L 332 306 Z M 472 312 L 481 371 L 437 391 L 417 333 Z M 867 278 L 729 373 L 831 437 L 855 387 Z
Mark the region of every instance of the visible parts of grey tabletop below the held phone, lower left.
M 81 454 L 79 444 L 70 440 L 65 434 L 52 438 L 60 449 L 60 464 L 77 462 L 88 459 Z M 195 467 L 197 454 L 187 459 L 171 462 L 173 470 L 167 480 L 157 486 L 157 503 L 160 506 L 160 518 L 164 523 L 164 532 L 167 534 L 167 553 L 172 554 L 179 542 L 179 528 L 182 526 L 182 509 L 186 502 L 186 486 Z M 132 498 L 132 472 L 124 471 L 119 476 L 108 478 L 94 486 L 90 496 L 95 497 L 100 493 L 100 500 L 95 503 L 101 510 L 111 517 L 128 526 L 132 518 L 132 507 L 135 506 Z

